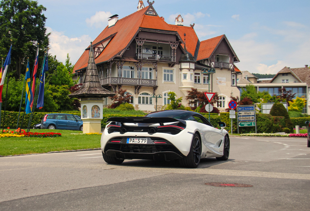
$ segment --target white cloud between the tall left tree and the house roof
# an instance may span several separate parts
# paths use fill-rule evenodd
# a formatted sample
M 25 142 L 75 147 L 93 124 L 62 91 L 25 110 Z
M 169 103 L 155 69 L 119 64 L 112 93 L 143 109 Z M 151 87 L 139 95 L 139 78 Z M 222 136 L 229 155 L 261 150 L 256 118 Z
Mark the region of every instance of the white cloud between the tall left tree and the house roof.
M 46 28 L 47 33 L 51 32 L 49 53 L 56 55 L 58 61 L 62 63 L 65 63 L 67 59 L 67 53 L 69 53 L 70 61 L 75 64 L 84 52 L 84 49 L 87 48 L 92 41 L 89 35 L 69 38 L 65 36 L 63 32 L 54 31 L 50 27 Z

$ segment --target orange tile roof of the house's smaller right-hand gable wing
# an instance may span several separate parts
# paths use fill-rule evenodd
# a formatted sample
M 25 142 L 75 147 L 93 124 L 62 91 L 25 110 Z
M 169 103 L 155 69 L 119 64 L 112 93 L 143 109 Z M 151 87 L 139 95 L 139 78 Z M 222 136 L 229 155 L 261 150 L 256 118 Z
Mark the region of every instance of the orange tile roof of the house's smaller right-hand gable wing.
M 213 53 L 214 49 L 216 48 L 216 46 L 218 45 L 218 43 L 222 40 L 223 36 L 224 35 L 221 35 L 221 36 L 200 42 L 197 61 L 209 58 L 211 54 Z

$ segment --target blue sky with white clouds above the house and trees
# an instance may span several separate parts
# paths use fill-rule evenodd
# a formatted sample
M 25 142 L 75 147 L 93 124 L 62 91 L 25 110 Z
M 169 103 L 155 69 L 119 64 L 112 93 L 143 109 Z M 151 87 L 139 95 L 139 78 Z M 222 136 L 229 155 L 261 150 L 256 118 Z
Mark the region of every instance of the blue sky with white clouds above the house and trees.
M 153 1 L 153 0 L 152 0 Z M 143 0 L 148 6 L 147 0 Z M 46 7 L 49 53 L 76 63 L 90 42 L 117 14 L 137 10 L 138 0 L 38 0 Z M 283 67 L 310 65 L 310 0 L 155 0 L 158 16 L 169 24 L 181 15 L 195 23 L 199 41 L 225 34 L 241 71 L 276 74 Z

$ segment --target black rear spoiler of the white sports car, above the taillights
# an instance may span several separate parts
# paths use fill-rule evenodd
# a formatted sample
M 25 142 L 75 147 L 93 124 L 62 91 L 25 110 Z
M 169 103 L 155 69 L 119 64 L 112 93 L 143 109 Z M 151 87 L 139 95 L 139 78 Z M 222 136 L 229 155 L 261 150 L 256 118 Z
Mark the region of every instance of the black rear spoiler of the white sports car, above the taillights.
M 110 117 L 107 122 L 119 122 L 121 124 L 124 123 L 159 123 L 163 125 L 164 123 L 171 123 L 171 122 L 180 122 L 186 126 L 186 122 L 180 119 L 174 119 L 172 117 Z

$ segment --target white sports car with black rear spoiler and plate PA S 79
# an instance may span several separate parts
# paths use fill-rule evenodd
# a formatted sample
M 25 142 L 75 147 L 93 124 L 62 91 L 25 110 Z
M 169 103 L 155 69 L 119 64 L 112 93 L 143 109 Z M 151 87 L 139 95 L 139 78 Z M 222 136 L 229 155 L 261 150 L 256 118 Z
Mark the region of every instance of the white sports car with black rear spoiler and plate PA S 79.
M 201 158 L 227 160 L 230 140 L 201 114 L 186 110 L 163 110 L 144 117 L 111 117 L 101 136 L 102 156 L 109 164 L 124 159 L 171 161 L 197 168 Z

